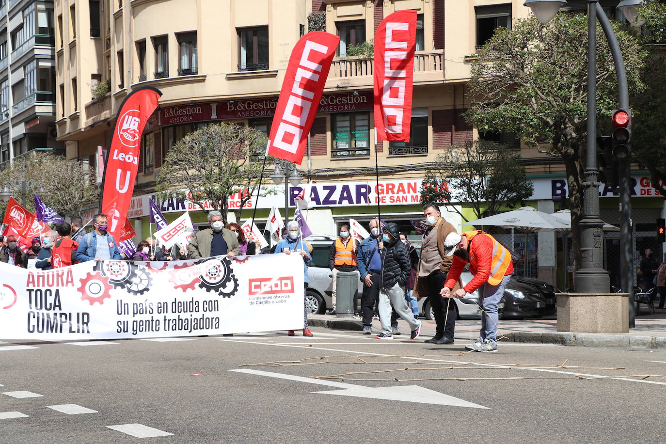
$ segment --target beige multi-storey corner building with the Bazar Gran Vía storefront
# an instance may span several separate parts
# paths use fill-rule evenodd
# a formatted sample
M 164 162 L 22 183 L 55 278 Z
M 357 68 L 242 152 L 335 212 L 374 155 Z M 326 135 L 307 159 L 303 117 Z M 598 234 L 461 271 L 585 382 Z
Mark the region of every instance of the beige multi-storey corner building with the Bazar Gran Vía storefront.
M 452 144 L 480 137 L 463 116 L 474 53 L 494 29 L 510 27 L 515 19 L 529 15 L 529 8 L 522 3 L 55 0 L 58 139 L 64 142 L 69 158 L 99 163 L 99 147 L 109 144 L 113 118 L 127 94 L 145 85 L 162 91 L 159 109 L 143 134 L 130 214 L 137 236 L 145 237 L 150 230 L 147 198 L 154 191 L 155 177 L 170 147 L 210 122 L 248 124 L 268 134 L 290 52 L 298 38 L 310 31 L 308 23 L 319 23 L 318 29 L 340 35 L 341 43 L 310 132 L 306 158 L 298 167 L 303 182 L 310 182 L 306 189 L 318 208 L 314 213 L 323 214 L 322 218 L 313 215 L 313 220 L 332 217 L 340 224 L 353 217 L 367 222 L 376 215 L 372 196 L 376 148 L 384 195 L 382 217 L 408 230 L 410 219 L 422 214 L 418 186 L 424 170 Z M 617 1 L 602 2 L 609 13 L 614 12 L 613 3 Z M 569 8 L 584 9 L 585 1 L 569 1 Z M 348 45 L 372 40 L 382 19 L 401 9 L 418 12 L 412 134 L 407 144 L 379 142 L 375 146 L 372 56 L 350 56 Z M 100 83 L 106 88 L 100 88 Z M 545 212 L 557 210 L 552 197 L 563 190 L 563 164 L 539 148 L 521 145 L 511 134 L 481 136 L 511 143 L 520 150 L 537 189 L 530 204 Z M 643 176 L 637 174 L 637 183 Z M 293 196 L 301 188 L 288 191 L 291 212 Z M 267 216 L 272 204 L 284 208 L 280 205 L 284 186 L 276 186 L 275 191 L 271 198 L 260 199 L 258 220 Z M 641 198 L 639 193 L 634 208 L 642 211 L 645 207 L 641 220 L 654 224 L 653 216 L 664 211 L 663 200 Z M 602 206 L 607 222 L 617 223 L 617 197 L 602 199 Z M 165 212 L 184 209 L 182 202 L 163 202 Z M 205 218 L 200 211 L 192 216 L 198 221 Z M 242 218 L 249 216 L 249 211 L 242 214 Z M 458 214 L 448 212 L 447 217 L 462 225 Z M 313 231 L 336 232 L 336 226 L 321 223 Z M 522 248 L 525 256 L 539 257 L 529 274 L 553 281 L 557 263 L 561 263 L 557 262 L 561 250 L 557 238 L 555 234 L 539 234 L 536 240 L 535 236 L 531 242 L 514 247 Z

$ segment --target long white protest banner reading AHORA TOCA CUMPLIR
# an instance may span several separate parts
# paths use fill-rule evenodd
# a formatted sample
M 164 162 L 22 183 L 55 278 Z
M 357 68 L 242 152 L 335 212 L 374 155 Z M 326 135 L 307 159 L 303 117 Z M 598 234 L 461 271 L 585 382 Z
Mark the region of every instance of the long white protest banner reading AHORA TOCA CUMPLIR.
M 0 339 L 121 339 L 303 328 L 300 256 L 0 263 Z

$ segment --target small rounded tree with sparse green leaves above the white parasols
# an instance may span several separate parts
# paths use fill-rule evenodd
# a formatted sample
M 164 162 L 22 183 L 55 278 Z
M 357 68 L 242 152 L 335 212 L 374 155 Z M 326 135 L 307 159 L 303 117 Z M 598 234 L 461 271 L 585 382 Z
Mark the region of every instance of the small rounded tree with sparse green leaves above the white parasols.
M 469 202 L 478 219 L 496 214 L 503 206 L 523 204 L 534 187 L 520 160 L 519 153 L 496 142 L 454 145 L 437 156 L 426 172 L 421 202 L 450 205 L 461 216 L 457 205 Z

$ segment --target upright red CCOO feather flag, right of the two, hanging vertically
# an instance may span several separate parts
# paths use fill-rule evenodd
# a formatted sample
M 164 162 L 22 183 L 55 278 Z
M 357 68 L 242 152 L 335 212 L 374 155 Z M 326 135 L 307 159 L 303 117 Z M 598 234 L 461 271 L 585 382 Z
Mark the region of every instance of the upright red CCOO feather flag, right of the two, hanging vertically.
M 374 120 L 377 140 L 410 141 L 416 11 L 397 11 L 375 35 Z

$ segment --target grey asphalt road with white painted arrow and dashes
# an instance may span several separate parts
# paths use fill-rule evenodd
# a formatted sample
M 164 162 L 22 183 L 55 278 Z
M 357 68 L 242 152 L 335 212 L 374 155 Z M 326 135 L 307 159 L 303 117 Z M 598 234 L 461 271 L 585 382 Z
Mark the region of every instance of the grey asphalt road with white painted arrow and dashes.
M 666 376 L 636 376 L 666 375 L 665 352 L 501 344 L 461 355 L 468 341 L 313 330 L 0 343 L 0 442 L 666 442 Z M 490 365 L 461 365 L 471 362 Z M 310 377 L 367 371 L 384 372 Z

